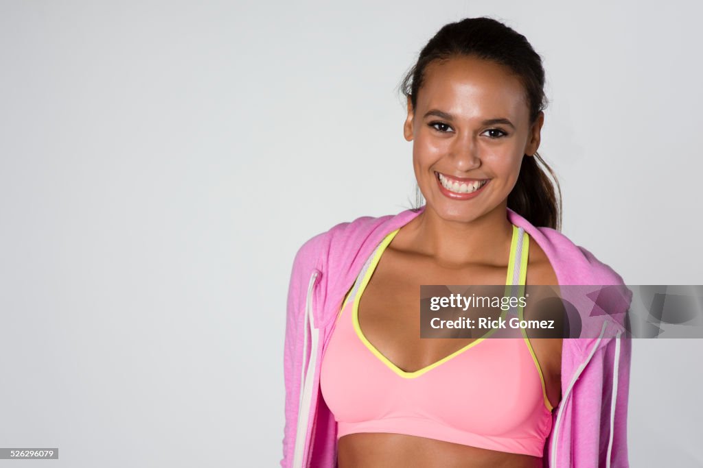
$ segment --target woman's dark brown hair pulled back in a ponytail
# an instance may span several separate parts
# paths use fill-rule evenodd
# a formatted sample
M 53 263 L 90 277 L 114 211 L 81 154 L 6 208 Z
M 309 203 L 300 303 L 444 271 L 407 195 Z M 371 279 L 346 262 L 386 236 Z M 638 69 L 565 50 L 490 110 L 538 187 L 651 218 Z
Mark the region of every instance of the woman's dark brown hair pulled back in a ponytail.
M 413 109 L 418 102 L 418 91 L 423 86 L 427 65 L 434 60 L 463 55 L 491 60 L 512 70 L 525 88 L 530 125 L 534 123 L 547 105 L 542 59 L 525 36 L 502 22 L 487 17 L 466 18 L 445 25 L 427 42 L 418 61 L 401 83 L 401 92 L 410 98 Z M 417 208 L 416 206 L 415 209 Z M 534 226 L 561 229 L 562 201 L 559 182 L 539 154 L 523 158 L 520 175 L 508 195 L 508 208 Z

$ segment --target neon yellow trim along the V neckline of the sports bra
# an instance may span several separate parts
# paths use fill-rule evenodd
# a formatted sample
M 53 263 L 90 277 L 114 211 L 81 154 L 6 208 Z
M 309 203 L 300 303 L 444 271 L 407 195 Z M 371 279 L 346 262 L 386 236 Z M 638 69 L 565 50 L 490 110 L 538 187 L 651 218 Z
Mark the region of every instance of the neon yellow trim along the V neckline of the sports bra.
M 515 226 L 513 226 L 515 228 Z M 363 342 L 364 345 L 368 348 L 368 350 L 373 353 L 374 356 L 376 356 L 382 363 L 384 363 L 390 370 L 392 370 L 394 373 L 397 375 L 403 377 L 404 379 L 413 379 L 415 377 L 420 377 L 420 375 L 423 375 L 426 373 L 428 370 L 432 370 L 439 366 L 440 364 L 445 363 L 446 361 L 449 361 L 452 359 L 454 356 L 458 356 L 459 354 L 465 352 L 467 349 L 470 349 L 476 345 L 478 345 L 480 342 L 485 340 L 487 337 L 491 336 L 493 333 L 496 332 L 497 328 L 493 328 L 489 330 L 488 333 L 483 335 L 482 337 L 477 338 L 476 340 L 470 342 L 468 345 L 466 345 L 463 348 L 457 349 L 455 352 L 452 354 L 449 354 L 449 356 L 445 356 L 444 358 L 440 359 L 439 361 L 430 364 L 429 366 L 425 366 L 421 369 L 414 370 L 413 372 L 406 372 L 405 370 L 402 370 L 398 366 L 396 366 L 394 363 L 392 363 L 389 359 L 387 359 L 386 356 L 381 354 L 378 349 L 376 349 L 375 346 L 371 344 L 370 341 L 366 339 L 366 336 L 363 334 L 361 331 L 361 326 L 359 326 L 359 302 L 361 302 L 361 296 L 363 295 L 363 291 L 366 290 L 366 285 L 371 279 L 371 275 L 376 269 L 376 265 L 378 265 L 378 262 L 381 258 L 381 254 L 383 253 L 384 250 L 386 250 L 386 247 L 388 246 L 389 243 L 393 240 L 396 234 L 398 234 L 400 228 L 396 229 L 394 232 L 388 234 L 385 239 L 380 243 L 380 246 L 378 247 L 378 250 L 376 251 L 375 255 L 373 256 L 373 259 L 371 260 L 370 265 L 368 266 L 368 269 L 366 270 L 366 274 L 363 276 L 363 280 L 361 281 L 361 285 L 359 285 L 359 291 L 356 293 L 356 297 L 354 297 L 354 306 L 352 309 L 352 322 L 354 323 L 354 330 L 356 331 L 356 336 L 359 337 L 359 340 Z M 513 236 L 512 236 L 512 245 L 510 246 L 510 258 L 514 259 L 515 258 L 515 252 L 517 251 L 517 228 L 513 229 Z M 513 261 L 514 262 L 514 261 Z M 509 268 L 510 270 L 510 268 Z M 510 274 L 510 273 L 509 273 Z M 512 278 L 512 276 L 508 276 L 509 278 Z M 501 318 L 505 319 L 505 314 L 507 314 L 507 311 L 503 311 L 501 313 Z

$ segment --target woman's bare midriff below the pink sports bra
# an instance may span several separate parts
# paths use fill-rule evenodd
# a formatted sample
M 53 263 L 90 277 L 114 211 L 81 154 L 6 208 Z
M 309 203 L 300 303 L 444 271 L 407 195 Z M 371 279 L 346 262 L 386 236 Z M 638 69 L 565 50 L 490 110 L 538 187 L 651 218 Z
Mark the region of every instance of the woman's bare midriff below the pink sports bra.
M 337 446 L 339 468 L 541 468 L 541 457 L 496 452 L 404 434 L 347 434 Z

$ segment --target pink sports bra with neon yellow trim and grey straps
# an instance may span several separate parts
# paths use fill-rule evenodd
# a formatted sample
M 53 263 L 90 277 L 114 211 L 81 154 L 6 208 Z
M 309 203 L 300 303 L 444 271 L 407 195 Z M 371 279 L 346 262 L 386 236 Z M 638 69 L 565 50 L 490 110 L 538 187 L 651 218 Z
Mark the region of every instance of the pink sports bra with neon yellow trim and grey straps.
M 541 457 L 552 407 L 526 334 L 524 340 L 480 337 L 414 372 L 396 367 L 363 335 L 359 300 L 397 232 L 361 270 L 323 355 L 321 390 L 337 439 L 389 432 Z M 513 226 L 508 285 L 524 285 L 528 247 L 527 233 Z

